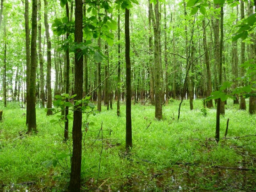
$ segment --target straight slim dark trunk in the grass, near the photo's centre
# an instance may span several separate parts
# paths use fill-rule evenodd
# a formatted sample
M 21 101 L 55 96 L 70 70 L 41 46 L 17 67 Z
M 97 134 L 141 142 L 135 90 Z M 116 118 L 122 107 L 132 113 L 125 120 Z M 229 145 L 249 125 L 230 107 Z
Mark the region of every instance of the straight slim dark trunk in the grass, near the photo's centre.
M 131 117 L 131 58 L 130 58 L 130 11 L 125 9 L 125 62 L 126 62 L 126 139 L 127 151 L 132 148 L 132 117 Z

